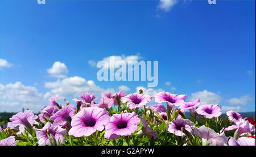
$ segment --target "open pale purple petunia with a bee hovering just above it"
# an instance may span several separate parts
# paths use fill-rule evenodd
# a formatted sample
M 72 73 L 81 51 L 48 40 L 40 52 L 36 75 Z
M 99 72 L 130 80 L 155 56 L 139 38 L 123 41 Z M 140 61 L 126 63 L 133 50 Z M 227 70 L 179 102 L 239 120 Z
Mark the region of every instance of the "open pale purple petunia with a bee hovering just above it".
M 128 102 L 127 107 L 130 109 L 141 108 L 144 105 L 147 105 L 152 100 L 151 96 L 147 94 L 129 94 L 125 97 L 122 97 L 122 102 Z

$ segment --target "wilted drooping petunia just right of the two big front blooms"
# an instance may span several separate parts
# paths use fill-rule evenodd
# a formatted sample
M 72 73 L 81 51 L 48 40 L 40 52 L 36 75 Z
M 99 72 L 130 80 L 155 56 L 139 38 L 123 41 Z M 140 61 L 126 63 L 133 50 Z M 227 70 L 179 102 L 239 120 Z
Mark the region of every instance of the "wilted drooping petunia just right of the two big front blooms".
M 146 135 L 149 139 L 158 139 L 159 135 L 155 131 L 153 131 L 148 125 L 145 118 L 141 118 L 141 122 L 143 125 L 143 129 L 138 132 L 138 135 Z

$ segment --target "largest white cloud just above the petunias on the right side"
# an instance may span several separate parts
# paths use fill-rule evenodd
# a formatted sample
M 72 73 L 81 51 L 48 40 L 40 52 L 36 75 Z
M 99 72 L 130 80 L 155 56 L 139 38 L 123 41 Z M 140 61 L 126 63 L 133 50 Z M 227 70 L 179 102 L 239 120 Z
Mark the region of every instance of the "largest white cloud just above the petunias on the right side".
M 206 105 L 206 104 L 218 104 L 222 100 L 222 97 L 219 96 L 216 93 L 209 92 L 207 90 L 203 90 L 200 92 L 192 93 L 191 97 L 189 98 L 189 101 L 195 101 L 197 98 L 200 98 L 201 104 Z

